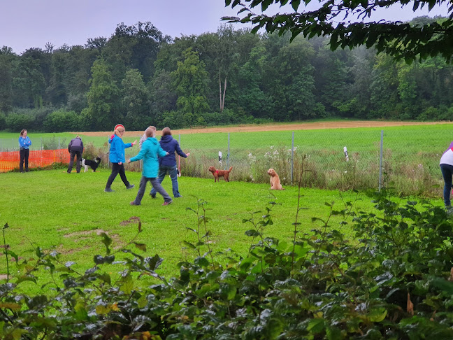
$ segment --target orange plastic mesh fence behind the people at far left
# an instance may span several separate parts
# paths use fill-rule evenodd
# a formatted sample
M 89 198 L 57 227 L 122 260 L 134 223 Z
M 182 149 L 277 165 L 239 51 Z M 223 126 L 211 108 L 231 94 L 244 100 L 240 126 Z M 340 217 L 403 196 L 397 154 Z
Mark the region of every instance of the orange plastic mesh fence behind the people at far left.
M 19 151 L 0 153 L 0 172 L 19 168 Z M 47 167 L 53 163 L 69 163 L 68 149 L 36 150 L 29 153 L 29 168 Z

